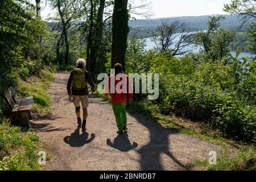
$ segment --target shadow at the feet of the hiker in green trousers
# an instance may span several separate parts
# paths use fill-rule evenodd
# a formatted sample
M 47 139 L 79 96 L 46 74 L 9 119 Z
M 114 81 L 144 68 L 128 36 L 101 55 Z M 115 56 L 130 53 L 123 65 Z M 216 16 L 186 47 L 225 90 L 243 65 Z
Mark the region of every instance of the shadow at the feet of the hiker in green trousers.
M 111 140 L 108 138 L 106 140 L 106 144 L 108 144 L 108 146 L 116 148 L 117 150 L 122 151 L 122 152 L 128 152 L 128 151 L 133 150 L 134 148 L 138 147 L 138 143 L 130 142 L 130 140 L 128 138 L 128 134 L 126 132 L 123 133 L 123 135 L 118 135 L 113 140 L 113 142 L 111 142 Z

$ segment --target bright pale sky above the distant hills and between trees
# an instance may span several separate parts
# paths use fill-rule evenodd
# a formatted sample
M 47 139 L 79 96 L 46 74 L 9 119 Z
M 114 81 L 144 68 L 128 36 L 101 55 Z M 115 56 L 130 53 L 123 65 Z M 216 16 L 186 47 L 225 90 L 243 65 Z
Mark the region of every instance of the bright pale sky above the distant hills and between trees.
M 45 1 L 42 0 L 42 8 L 45 7 Z M 231 0 L 142 0 L 151 4 L 150 18 L 164 18 L 171 16 L 200 16 L 225 14 L 222 10 L 224 3 L 230 3 Z M 31 0 L 35 2 L 35 0 Z M 141 0 L 129 0 L 134 5 L 140 5 Z M 42 10 L 42 18 L 46 19 L 54 11 L 47 5 Z M 141 16 L 133 15 L 137 19 L 143 19 Z

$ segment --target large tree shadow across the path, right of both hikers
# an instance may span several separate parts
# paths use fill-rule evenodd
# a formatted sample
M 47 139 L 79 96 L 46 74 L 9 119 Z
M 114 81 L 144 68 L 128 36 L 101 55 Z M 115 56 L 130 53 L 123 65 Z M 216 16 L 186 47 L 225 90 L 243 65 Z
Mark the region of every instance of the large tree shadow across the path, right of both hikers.
M 184 169 L 184 164 L 175 158 L 169 147 L 171 142 L 169 141 L 169 135 L 176 134 L 177 131 L 166 129 L 162 125 L 153 122 L 156 118 L 151 115 L 150 112 L 147 113 L 147 118 L 151 118 L 152 121 L 145 119 L 142 114 L 134 112 L 129 113 L 136 118 L 139 123 L 146 127 L 150 133 L 150 142 L 138 150 L 138 153 L 141 156 L 141 169 L 143 171 L 163 171 L 164 167 L 160 160 L 161 154 L 166 154 L 175 162 L 175 166 Z

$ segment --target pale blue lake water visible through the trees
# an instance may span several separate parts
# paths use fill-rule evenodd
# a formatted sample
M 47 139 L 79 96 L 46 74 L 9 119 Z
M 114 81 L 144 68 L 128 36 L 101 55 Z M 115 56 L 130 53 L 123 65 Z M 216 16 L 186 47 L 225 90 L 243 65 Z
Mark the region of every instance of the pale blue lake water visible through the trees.
M 175 36 L 175 35 L 174 35 Z M 151 38 L 146 38 L 146 39 L 144 39 L 144 40 L 146 40 L 146 47 L 145 47 L 145 49 L 148 51 L 148 50 L 150 50 L 150 49 L 154 49 L 156 46 L 155 46 L 155 43 L 151 40 Z M 179 37 L 177 37 L 176 39 L 175 39 L 175 41 L 177 42 L 179 40 Z M 192 45 L 190 45 L 190 46 L 188 46 L 188 47 L 185 47 L 184 48 L 184 50 L 189 50 L 189 52 L 193 52 L 193 53 L 199 53 L 199 51 L 200 51 L 200 48 L 199 47 L 196 47 L 194 44 L 192 44 Z M 234 52 L 234 51 L 231 51 L 231 54 L 232 54 L 232 56 L 236 56 L 236 52 Z M 181 55 L 182 56 L 182 55 Z M 241 58 L 241 57 L 247 57 L 247 56 L 253 56 L 253 55 L 251 55 L 251 53 L 249 53 L 249 52 L 241 52 L 240 53 L 240 56 L 239 56 L 239 58 Z M 180 56 L 176 56 L 176 57 L 180 57 Z

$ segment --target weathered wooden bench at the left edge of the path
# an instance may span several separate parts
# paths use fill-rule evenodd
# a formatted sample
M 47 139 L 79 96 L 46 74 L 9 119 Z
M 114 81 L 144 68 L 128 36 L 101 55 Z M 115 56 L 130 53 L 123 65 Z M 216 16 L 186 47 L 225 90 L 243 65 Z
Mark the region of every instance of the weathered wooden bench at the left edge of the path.
M 33 97 L 18 97 L 15 89 L 11 86 L 7 89 L 5 101 L 12 109 L 13 121 L 30 127 Z

